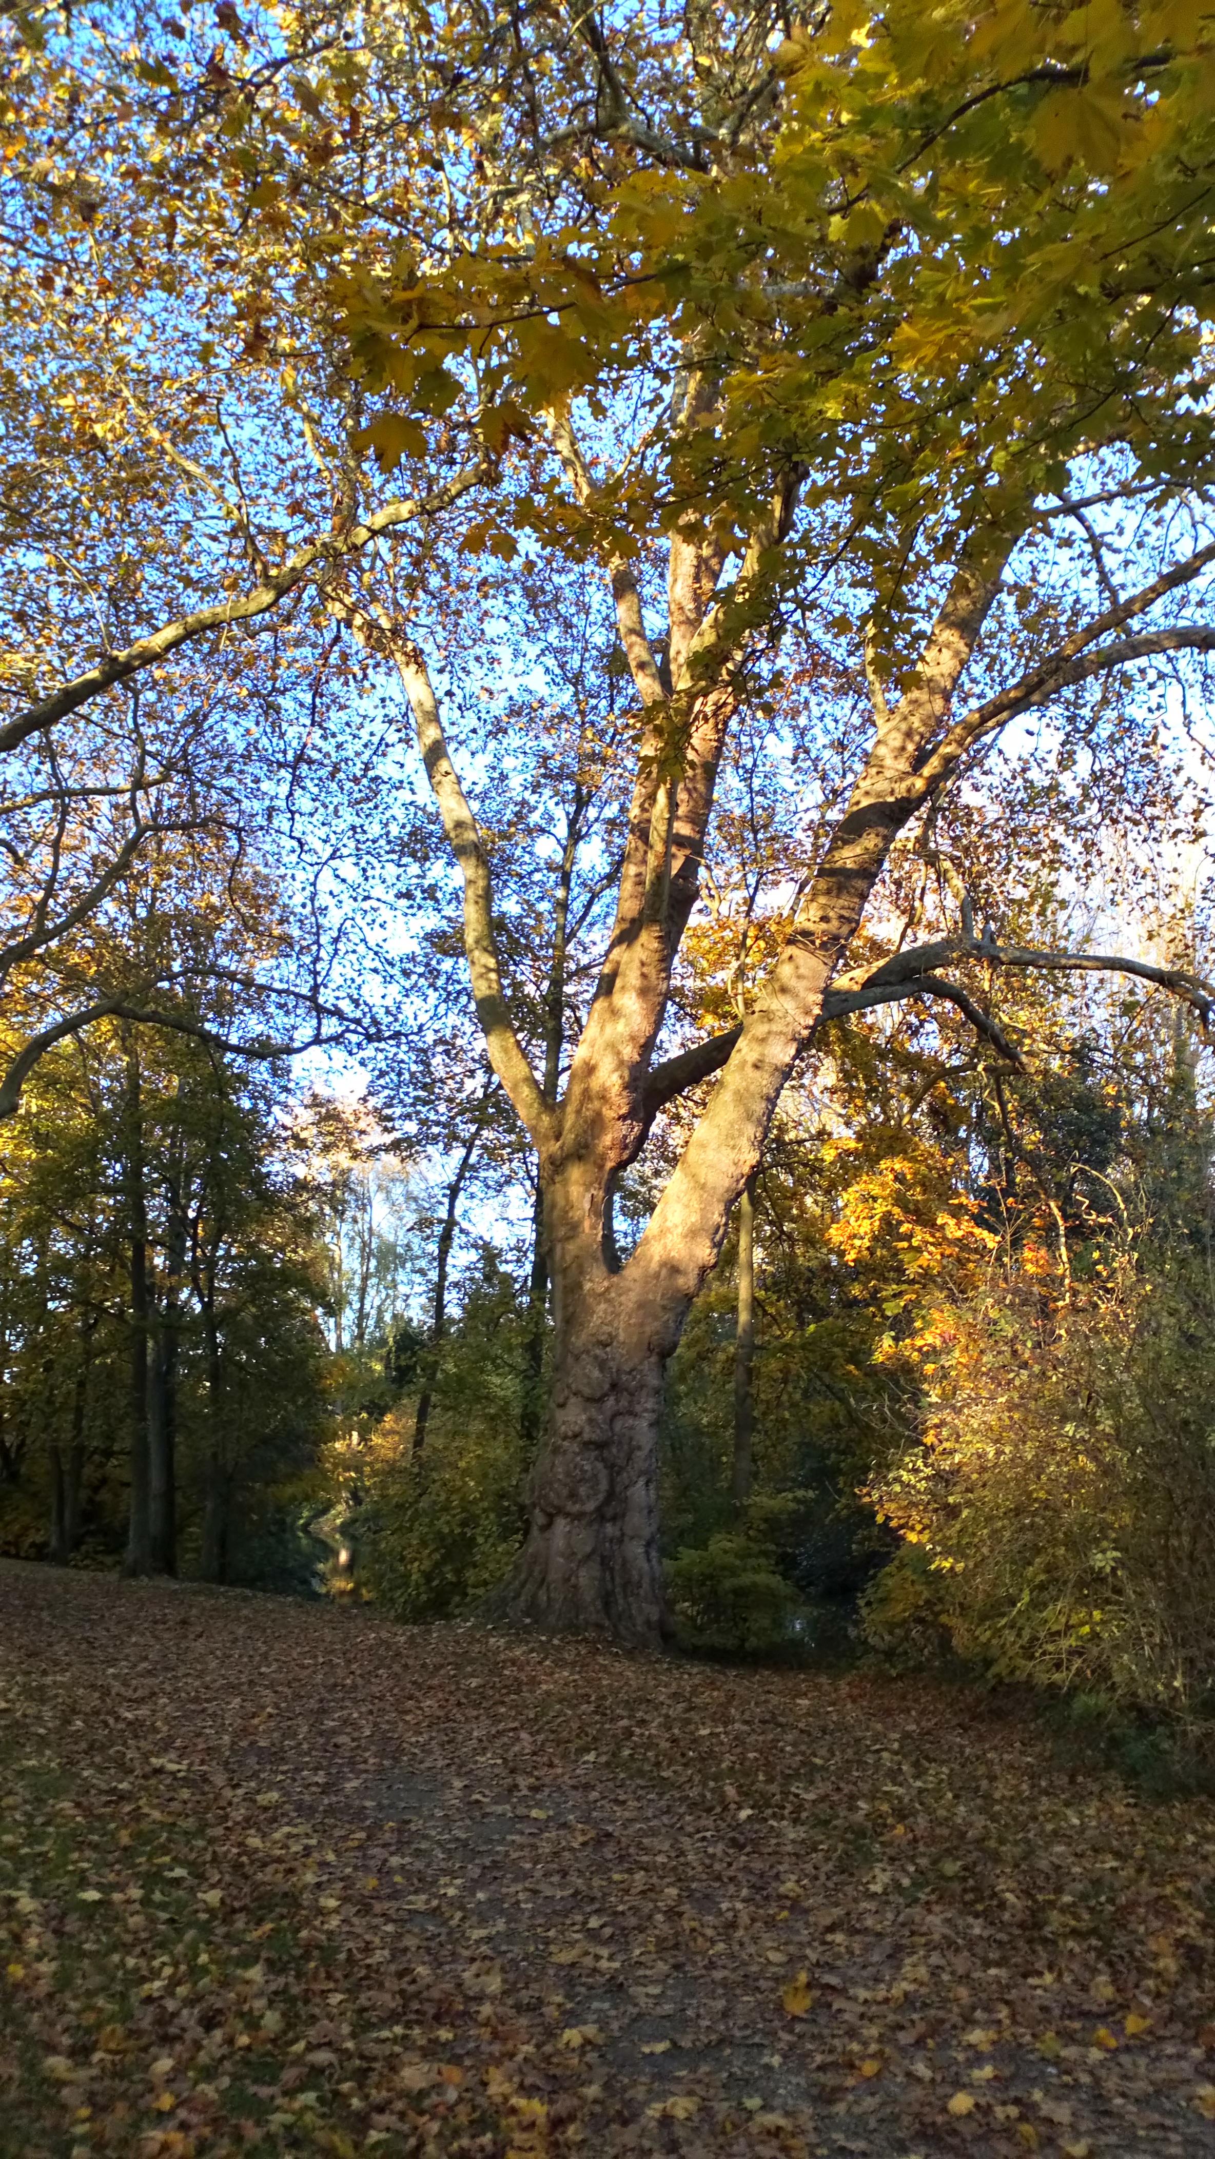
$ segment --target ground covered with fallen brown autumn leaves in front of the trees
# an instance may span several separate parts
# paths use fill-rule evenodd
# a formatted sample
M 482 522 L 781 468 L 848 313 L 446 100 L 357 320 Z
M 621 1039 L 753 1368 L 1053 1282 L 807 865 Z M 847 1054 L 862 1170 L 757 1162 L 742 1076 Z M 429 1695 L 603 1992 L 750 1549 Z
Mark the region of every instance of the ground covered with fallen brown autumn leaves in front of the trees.
M 1211 2153 L 1215 1809 L 975 1695 L 0 1567 L 4 2155 Z

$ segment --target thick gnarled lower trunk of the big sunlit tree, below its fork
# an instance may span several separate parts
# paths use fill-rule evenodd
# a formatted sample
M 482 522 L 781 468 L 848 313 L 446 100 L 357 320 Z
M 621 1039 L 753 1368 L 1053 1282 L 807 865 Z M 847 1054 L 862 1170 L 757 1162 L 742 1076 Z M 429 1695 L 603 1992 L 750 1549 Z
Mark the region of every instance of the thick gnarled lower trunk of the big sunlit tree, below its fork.
M 663 1358 L 606 1293 L 557 1326 L 548 1440 L 531 1529 L 503 1606 L 559 1632 L 658 1647 L 658 1418 Z

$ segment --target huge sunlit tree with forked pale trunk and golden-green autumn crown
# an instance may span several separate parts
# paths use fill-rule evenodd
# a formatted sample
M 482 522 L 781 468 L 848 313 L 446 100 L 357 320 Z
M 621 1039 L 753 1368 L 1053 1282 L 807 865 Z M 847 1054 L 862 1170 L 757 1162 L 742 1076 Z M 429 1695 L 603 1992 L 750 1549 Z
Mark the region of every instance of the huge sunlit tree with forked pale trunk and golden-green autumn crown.
M 477 1019 L 537 1157 L 552 1388 L 505 1606 L 652 1643 L 665 1367 L 831 1019 L 947 1000 L 1016 1058 L 988 995 L 1008 967 L 1122 967 L 1206 1019 L 1193 974 L 978 924 L 947 861 L 952 792 L 982 784 L 1008 730 L 1036 728 L 1045 766 L 1086 756 L 1133 786 L 1215 648 L 1202 32 L 1170 6 L 1006 0 L 928 26 L 911 4 L 235 19 L 194 104 L 177 60 L 149 80 L 181 123 L 209 99 L 248 229 L 263 214 L 287 233 L 278 289 L 296 311 L 309 294 L 315 332 L 291 384 L 313 367 L 337 538 L 283 559 L 404 689 Z M 367 510 L 371 456 L 410 469 L 408 522 Z M 624 734 L 604 697 L 611 775 L 596 756 L 572 775 L 574 795 L 619 788 L 624 842 L 591 859 L 591 883 L 613 872 L 583 918 L 598 974 L 548 1069 L 477 790 L 550 784 L 552 732 L 544 697 L 518 695 L 516 643 L 511 728 L 462 760 L 468 669 L 492 697 L 455 620 L 479 557 L 529 605 L 542 570 L 591 566 L 604 682 L 628 689 Z M 255 587 L 268 609 L 281 576 Z M 216 630 L 222 607 L 203 613 L 177 646 Z M 688 1036 L 673 1000 L 719 771 L 781 710 L 783 654 L 822 762 L 807 777 L 773 728 L 790 792 L 805 786 L 796 859 L 745 1019 Z M 58 684 L 30 723 L 104 689 L 106 665 L 145 658 L 132 643 Z M 880 907 L 911 836 L 952 892 L 930 941 Z M 568 900 L 557 872 L 537 931 L 552 954 Z M 665 1105 L 710 1080 L 622 1261 L 619 1181 Z

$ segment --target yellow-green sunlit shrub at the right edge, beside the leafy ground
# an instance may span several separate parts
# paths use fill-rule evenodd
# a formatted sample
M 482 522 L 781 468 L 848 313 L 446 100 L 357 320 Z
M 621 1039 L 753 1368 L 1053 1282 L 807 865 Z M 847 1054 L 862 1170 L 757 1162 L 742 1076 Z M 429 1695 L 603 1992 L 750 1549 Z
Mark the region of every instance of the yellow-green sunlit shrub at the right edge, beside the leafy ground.
M 1055 1300 L 1019 1278 L 941 1330 L 922 1444 L 874 1488 L 902 1552 L 870 1639 L 1200 1719 L 1215 1686 L 1215 1364 L 1185 1265 Z

